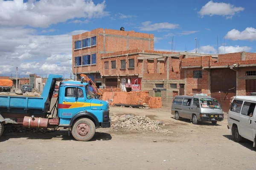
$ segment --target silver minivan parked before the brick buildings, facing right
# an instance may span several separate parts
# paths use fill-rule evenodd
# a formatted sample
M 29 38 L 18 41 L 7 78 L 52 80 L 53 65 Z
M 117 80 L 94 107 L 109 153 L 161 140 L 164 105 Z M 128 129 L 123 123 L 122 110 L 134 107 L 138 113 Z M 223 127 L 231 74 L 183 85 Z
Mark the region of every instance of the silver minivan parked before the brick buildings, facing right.
M 176 120 L 190 119 L 197 125 L 198 121 L 212 122 L 224 120 L 221 105 L 209 96 L 175 96 L 172 102 L 172 115 Z

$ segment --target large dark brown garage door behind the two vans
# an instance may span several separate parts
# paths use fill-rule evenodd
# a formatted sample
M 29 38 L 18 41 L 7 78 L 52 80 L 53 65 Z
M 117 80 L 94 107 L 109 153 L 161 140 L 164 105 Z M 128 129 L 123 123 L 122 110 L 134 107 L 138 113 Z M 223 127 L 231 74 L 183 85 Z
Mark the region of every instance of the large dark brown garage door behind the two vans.
M 211 96 L 218 100 L 222 110 L 227 112 L 230 97 L 236 96 L 236 71 L 228 69 L 211 70 Z

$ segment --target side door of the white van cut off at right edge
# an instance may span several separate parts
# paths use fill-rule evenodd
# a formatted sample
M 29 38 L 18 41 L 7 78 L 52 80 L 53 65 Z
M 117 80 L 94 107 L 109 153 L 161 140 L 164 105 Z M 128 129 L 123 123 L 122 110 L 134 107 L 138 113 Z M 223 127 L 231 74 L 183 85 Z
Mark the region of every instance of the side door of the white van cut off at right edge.
M 241 136 L 251 141 L 253 140 L 253 112 L 255 105 L 256 103 L 244 102 L 240 116 Z

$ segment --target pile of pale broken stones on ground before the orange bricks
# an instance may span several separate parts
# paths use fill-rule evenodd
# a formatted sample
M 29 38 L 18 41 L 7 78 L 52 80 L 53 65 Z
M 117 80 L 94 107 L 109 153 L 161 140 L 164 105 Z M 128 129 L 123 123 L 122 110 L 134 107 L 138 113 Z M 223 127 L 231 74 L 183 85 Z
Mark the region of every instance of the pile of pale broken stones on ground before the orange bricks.
M 168 133 L 168 130 L 162 130 L 161 126 L 165 126 L 162 121 L 151 120 L 146 116 L 134 116 L 134 115 L 122 115 L 117 116 L 113 113 L 111 117 L 111 126 L 112 127 L 125 127 L 131 130 L 142 130 L 142 131 L 158 131 Z

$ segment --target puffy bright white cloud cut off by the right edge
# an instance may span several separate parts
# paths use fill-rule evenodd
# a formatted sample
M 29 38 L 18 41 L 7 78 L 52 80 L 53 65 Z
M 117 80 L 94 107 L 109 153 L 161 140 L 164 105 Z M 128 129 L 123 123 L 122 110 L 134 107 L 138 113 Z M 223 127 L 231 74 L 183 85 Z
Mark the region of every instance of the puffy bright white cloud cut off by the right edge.
M 233 29 L 231 31 L 227 32 L 227 35 L 225 36 L 226 39 L 231 40 L 250 40 L 255 41 L 256 40 L 256 29 L 252 27 L 247 27 L 244 31 L 238 31 L 236 29 Z

